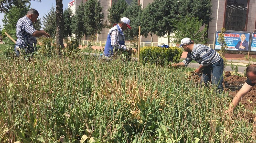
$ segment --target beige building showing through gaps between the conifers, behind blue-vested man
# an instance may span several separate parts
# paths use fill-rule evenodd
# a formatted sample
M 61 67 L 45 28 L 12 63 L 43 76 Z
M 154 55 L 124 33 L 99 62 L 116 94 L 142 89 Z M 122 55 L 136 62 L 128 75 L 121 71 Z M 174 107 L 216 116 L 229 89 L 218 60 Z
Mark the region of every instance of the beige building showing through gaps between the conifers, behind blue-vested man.
M 68 7 L 72 10 L 73 13 L 75 13 L 76 9 L 78 6 L 81 4 L 81 2 L 86 3 L 87 0 L 73 0 L 68 3 Z M 117 1 L 117 0 L 98 0 L 101 3 L 102 6 L 102 12 L 104 14 L 104 19 L 103 23 L 105 21 L 108 22 L 107 16 L 108 16 L 108 8 L 111 7 L 112 3 Z M 128 4 L 131 4 L 132 0 L 126 0 Z M 142 8 L 145 8 L 148 3 L 153 2 L 153 0 L 138 0 L 138 4 L 142 5 Z M 131 21 L 132 22 L 132 21 Z M 103 28 L 102 32 L 100 35 L 97 35 L 97 40 L 98 41 L 106 41 L 107 36 L 108 36 L 109 29 L 108 28 Z M 86 40 L 85 37 L 82 38 L 82 40 Z M 151 36 L 148 36 L 147 38 L 141 36 L 141 41 L 142 42 L 151 42 Z M 158 42 L 158 37 L 156 35 L 153 35 L 153 42 Z

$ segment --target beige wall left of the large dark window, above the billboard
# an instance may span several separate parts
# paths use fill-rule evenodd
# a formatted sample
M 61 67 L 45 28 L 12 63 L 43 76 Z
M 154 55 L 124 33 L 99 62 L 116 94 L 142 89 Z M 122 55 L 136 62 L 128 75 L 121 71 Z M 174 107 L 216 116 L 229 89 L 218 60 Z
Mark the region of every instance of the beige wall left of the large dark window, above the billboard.
M 224 24 L 225 0 L 211 0 L 212 3 L 212 21 L 209 22 L 208 44 L 213 44 L 214 34 L 220 31 Z

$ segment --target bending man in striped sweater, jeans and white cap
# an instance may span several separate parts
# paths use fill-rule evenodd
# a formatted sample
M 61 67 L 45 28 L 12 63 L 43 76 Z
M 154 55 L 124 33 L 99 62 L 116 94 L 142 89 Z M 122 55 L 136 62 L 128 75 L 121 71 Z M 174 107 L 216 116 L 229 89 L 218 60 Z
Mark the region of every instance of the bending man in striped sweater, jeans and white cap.
M 187 66 L 192 60 L 195 60 L 200 66 L 195 70 L 195 73 L 201 73 L 202 80 L 205 83 L 217 85 L 218 90 L 223 91 L 223 59 L 219 53 L 202 44 L 194 44 L 190 38 L 183 38 L 180 47 L 183 47 L 187 54 L 187 58 L 178 64 L 172 66 L 184 67 Z

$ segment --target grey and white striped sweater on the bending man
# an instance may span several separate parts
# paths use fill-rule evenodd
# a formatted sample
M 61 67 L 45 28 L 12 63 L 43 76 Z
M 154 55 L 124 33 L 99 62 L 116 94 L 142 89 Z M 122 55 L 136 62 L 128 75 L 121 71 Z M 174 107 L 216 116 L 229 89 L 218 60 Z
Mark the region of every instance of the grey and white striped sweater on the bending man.
M 215 50 L 211 49 L 208 46 L 202 44 L 194 44 L 192 52 L 187 54 L 187 58 L 183 61 L 185 66 L 195 60 L 197 63 L 201 64 L 202 66 L 208 66 L 218 62 L 221 59 L 219 53 Z

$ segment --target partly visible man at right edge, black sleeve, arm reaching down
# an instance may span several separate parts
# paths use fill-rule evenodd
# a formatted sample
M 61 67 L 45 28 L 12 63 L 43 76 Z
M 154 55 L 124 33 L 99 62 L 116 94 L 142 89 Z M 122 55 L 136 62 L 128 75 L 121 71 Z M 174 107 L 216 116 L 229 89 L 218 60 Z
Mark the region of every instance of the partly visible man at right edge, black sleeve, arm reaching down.
M 233 112 L 234 108 L 241 102 L 242 98 L 252 89 L 256 84 L 256 64 L 250 64 L 246 68 L 247 80 L 242 88 L 238 91 L 237 95 L 233 98 L 231 105 L 225 113 Z

